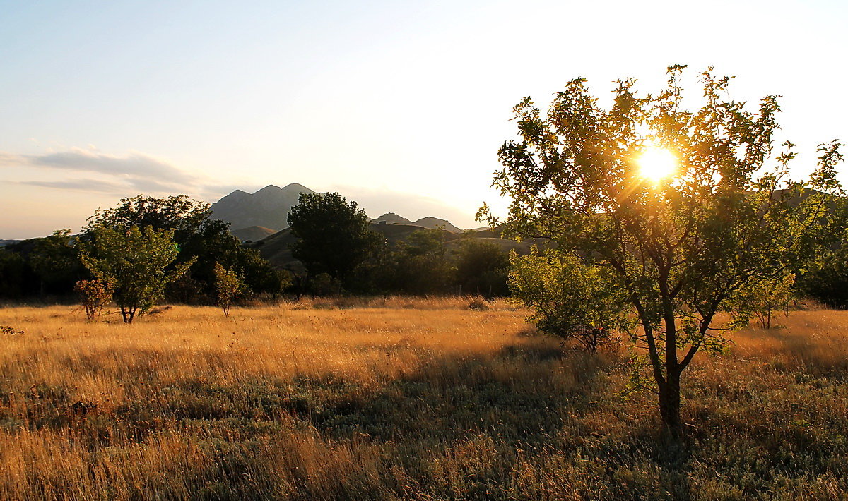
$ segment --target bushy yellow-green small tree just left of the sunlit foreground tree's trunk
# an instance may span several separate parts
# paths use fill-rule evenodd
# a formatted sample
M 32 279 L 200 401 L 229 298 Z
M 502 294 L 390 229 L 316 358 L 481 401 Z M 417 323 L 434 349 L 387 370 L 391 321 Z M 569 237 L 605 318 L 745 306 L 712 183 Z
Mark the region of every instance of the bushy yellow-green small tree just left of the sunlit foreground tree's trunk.
M 574 339 L 591 352 L 609 343 L 616 331 L 629 332 L 627 296 L 610 270 L 587 267 L 577 257 L 554 250 L 529 256 L 510 252 L 510 292 L 533 310 L 536 328 L 561 339 Z

